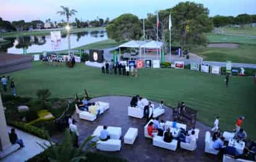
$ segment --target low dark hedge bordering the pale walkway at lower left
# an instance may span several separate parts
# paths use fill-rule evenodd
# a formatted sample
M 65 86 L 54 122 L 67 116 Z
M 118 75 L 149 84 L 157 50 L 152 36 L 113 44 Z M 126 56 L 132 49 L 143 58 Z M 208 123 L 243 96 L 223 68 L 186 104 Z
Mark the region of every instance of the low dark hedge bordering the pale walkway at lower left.
M 38 127 L 31 126 L 30 124 L 25 124 L 24 122 L 9 121 L 7 124 L 16 127 L 17 129 L 24 130 L 24 132 L 29 134 L 40 137 L 41 139 L 48 140 L 50 137 L 47 131 Z

